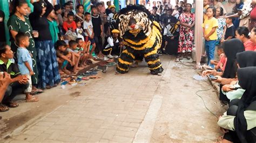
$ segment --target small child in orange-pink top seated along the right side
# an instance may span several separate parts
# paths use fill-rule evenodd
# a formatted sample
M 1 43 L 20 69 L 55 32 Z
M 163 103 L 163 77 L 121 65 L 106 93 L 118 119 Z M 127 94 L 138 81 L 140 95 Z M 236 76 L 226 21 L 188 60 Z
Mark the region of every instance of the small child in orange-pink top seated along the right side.
M 220 56 L 220 61 L 216 60 L 211 60 L 211 64 L 215 65 L 215 69 L 217 71 L 224 71 L 226 67 L 226 61 L 227 58 L 224 54 L 224 49 L 221 46 L 218 46 L 218 51 L 217 51 L 218 56 Z

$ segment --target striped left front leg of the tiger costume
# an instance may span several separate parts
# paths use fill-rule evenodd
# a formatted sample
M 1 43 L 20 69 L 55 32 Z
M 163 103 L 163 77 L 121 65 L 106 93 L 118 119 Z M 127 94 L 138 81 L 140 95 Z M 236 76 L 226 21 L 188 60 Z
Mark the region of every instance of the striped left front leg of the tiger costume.
M 126 48 L 120 58 L 118 59 L 118 66 L 117 66 L 117 71 L 118 73 L 124 74 L 127 73 L 129 70 L 129 65 L 132 64 L 133 60 L 135 59 L 133 53 L 133 49 L 131 48 Z

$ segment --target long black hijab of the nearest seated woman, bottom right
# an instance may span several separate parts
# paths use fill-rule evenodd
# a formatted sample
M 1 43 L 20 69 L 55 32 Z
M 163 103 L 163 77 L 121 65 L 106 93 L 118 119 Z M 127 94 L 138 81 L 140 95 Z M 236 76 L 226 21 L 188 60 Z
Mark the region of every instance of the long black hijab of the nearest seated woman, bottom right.
M 245 109 L 256 101 L 256 67 L 239 68 L 238 71 L 239 85 L 245 89 L 237 109 L 237 115 L 234 118 L 235 132 L 241 142 L 247 142 L 245 133 L 247 131 L 247 122 L 244 116 Z

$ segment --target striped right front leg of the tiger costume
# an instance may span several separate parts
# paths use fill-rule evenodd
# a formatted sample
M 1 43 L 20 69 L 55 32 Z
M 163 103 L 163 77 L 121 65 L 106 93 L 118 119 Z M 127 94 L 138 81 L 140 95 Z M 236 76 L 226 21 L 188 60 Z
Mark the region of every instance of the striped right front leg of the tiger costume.
M 157 48 L 145 49 L 144 53 L 144 58 L 149 66 L 150 73 L 159 75 L 164 69 L 162 68 L 159 55 L 157 54 Z

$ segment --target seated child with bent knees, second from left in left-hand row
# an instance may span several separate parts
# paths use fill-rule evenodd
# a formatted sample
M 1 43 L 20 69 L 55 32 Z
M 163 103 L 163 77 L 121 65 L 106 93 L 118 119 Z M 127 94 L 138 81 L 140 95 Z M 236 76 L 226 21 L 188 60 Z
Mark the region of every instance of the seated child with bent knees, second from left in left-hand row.
M 75 40 L 70 40 L 69 41 L 69 48 L 67 49 L 69 52 L 72 53 L 72 61 L 75 61 L 75 67 L 74 67 L 74 72 L 76 73 L 77 70 L 83 69 L 85 66 L 83 66 L 83 63 L 80 63 L 81 59 L 81 52 L 77 50 L 77 42 Z

